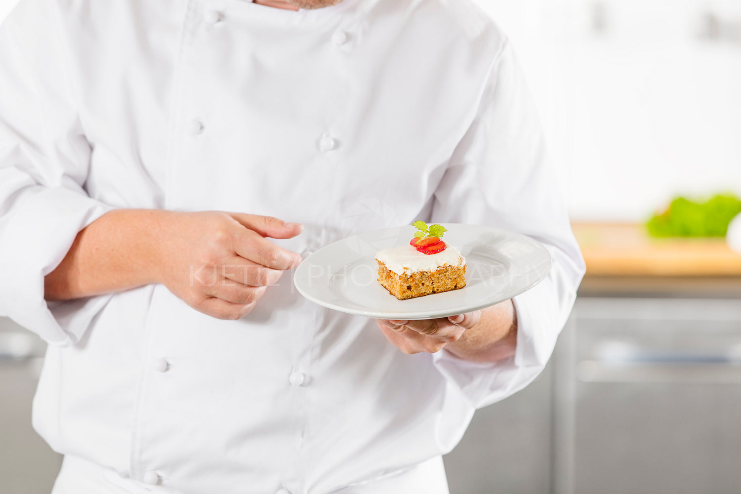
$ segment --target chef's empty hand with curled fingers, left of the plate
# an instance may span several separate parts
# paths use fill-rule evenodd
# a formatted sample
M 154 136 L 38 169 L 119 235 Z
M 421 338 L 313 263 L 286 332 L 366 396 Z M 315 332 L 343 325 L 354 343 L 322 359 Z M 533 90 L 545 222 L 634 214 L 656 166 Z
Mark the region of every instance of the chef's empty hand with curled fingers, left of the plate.
M 208 316 L 239 319 L 268 285 L 302 261 L 265 237 L 292 238 L 301 224 L 269 216 L 205 211 L 171 213 L 161 236 L 157 281 Z

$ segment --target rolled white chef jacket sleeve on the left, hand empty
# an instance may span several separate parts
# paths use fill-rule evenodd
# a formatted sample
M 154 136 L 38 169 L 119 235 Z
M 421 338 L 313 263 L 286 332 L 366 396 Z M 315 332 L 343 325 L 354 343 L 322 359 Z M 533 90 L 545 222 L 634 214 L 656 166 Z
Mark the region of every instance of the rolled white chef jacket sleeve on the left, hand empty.
M 0 316 L 64 345 L 110 296 L 47 304 L 44 276 L 112 208 L 84 190 L 91 147 L 57 15 L 50 1 L 21 0 L 0 25 Z

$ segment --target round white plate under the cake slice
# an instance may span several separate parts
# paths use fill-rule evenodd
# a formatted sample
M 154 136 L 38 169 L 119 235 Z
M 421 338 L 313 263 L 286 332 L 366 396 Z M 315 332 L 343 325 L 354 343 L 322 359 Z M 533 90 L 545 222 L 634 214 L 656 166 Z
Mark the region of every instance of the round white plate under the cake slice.
M 316 304 L 379 319 L 432 319 L 482 309 L 519 295 L 548 274 L 551 256 L 519 233 L 469 224 L 444 224 L 445 243 L 466 260 L 466 286 L 397 300 L 378 282 L 376 253 L 408 244 L 416 229 L 388 228 L 351 236 L 317 250 L 296 268 L 296 289 Z

